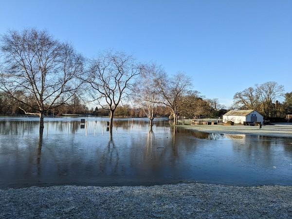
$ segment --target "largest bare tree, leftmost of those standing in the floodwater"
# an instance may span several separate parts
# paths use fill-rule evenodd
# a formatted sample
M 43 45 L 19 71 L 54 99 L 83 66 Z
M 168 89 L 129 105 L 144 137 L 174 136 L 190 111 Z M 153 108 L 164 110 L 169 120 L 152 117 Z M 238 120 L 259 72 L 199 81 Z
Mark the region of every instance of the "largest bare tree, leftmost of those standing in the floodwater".
M 45 112 L 71 101 L 80 89 L 83 57 L 69 43 L 36 29 L 8 31 L 1 37 L 1 52 L 0 89 L 26 106 L 21 108 L 26 114 L 39 115 L 42 132 Z

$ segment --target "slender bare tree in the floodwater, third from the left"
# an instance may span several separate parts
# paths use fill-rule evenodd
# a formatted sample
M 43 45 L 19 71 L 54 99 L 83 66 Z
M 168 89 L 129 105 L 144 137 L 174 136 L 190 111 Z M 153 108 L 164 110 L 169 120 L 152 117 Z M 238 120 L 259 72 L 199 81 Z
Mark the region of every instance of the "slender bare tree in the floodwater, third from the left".
M 157 64 L 146 64 L 135 82 L 133 102 L 141 107 L 149 119 L 150 130 L 156 117 L 157 107 L 161 103 L 161 94 L 157 89 L 157 82 L 162 80 L 164 70 Z

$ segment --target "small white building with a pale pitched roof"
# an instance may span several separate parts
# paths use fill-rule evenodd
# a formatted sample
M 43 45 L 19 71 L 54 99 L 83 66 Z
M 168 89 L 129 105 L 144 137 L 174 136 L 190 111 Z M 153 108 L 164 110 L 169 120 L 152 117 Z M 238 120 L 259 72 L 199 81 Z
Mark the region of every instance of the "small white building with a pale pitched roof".
M 223 115 L 223 123 L 228 121 L 236 124 L 243 124 L 243 122 L 261 122 L 263 124 L 264 117 L 256 110 L 230 110 Z

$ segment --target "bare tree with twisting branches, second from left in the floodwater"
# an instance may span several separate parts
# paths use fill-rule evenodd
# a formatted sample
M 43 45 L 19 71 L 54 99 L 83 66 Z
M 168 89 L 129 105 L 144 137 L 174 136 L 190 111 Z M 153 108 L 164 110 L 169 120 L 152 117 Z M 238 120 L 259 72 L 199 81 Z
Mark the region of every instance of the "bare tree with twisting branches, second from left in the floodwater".
M 85 79 L 90 84 L 94 99 L 99 105 L 110 111 L 110 128 L 114 111 L 120 102 L 132 89 L 131 79 L 140 73 L 132 55 L 124 52 L 105 51 L 91 61 L 88 77 Z M 96 91 L 96 92 L 94 92 Z M 106 107 L 102 101 L 106 101 Z

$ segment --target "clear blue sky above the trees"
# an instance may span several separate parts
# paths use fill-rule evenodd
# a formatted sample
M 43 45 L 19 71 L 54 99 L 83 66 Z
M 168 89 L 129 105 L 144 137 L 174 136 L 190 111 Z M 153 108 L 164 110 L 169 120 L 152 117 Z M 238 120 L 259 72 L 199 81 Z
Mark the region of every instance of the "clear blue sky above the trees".
M 226 107 L 267 81 L 292 91 L 292 0 L 0 0 L 0 34 L 26 27 L 184 72 Z

